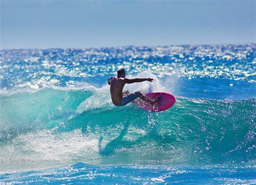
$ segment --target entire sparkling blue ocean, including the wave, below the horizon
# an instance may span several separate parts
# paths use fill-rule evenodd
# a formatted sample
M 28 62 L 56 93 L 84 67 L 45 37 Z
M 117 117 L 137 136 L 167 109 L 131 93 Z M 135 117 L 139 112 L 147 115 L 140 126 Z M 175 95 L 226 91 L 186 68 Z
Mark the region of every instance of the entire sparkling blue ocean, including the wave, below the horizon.
M 256 183 L 256 44 L 0 50 L 0 184 Z M 153 83 L 163 112 L 111 102 Z

